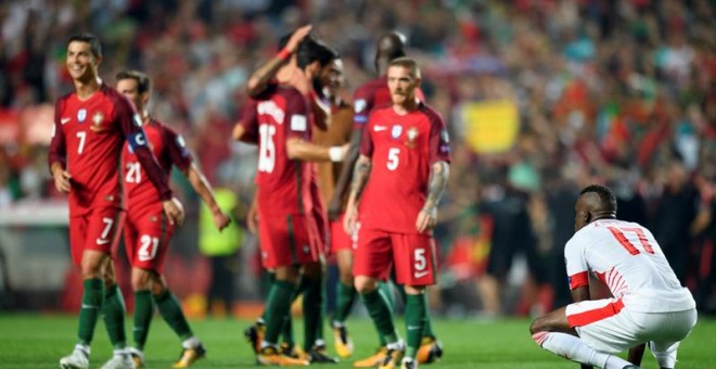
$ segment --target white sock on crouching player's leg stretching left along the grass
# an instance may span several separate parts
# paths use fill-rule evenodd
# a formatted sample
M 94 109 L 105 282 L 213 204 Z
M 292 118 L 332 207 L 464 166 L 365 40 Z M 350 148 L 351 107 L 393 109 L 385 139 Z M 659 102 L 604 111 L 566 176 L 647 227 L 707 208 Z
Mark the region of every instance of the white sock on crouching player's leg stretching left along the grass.
M 600 353 L 578 338 L 560 332 L 539 332 L 532 336 L 542 348 L 572 361 L 591 365 L 604 369 L 622 369 L 631 362 L 618 356 Z

